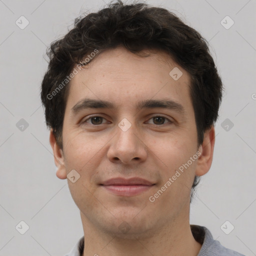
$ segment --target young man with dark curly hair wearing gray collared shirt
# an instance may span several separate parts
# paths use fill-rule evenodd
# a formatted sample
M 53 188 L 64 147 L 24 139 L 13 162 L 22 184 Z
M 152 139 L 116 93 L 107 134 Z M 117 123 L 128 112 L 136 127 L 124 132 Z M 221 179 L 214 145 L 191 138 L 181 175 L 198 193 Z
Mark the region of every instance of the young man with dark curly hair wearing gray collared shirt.
M 189 224 L 211 165 L 222 83 L 204 39 L 121 1 L 51 44 L 41 99 L 57 177 L 80 210 L 74 255 L 241 255 Z

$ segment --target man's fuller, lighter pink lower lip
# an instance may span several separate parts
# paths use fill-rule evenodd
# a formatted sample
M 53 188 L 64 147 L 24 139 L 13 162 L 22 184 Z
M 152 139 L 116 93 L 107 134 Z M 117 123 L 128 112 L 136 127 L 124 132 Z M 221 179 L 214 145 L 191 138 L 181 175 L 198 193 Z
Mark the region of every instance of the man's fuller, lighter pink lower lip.
M 137 195 L 150 189 L 152 186 L 153 185 L 103 185 L 106 190 L 122 196 Z

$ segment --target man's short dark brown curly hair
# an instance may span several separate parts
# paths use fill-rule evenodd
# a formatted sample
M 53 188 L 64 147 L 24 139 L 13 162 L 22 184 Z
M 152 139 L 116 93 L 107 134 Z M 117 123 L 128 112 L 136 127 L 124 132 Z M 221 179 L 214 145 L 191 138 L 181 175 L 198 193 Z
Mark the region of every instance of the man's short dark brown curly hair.
M 76 18 L 74 27 L 47 50 L 49 63 L 41 84 L 41 101 L 46 125 L 53 129 L 60 148 L 68 83 L 54 97 L 48 95 L 86 54 L 118 45 L 135 54 L 149 48 L 164 50 L 190 74 L 190 96 L 200 145 L 205 130 L 218 117 L 222 96 L 222 82 L 206 40 L 167 9 L 117 0 L 98 12 Z M 192 188 L 197 183 L 195 177 Z

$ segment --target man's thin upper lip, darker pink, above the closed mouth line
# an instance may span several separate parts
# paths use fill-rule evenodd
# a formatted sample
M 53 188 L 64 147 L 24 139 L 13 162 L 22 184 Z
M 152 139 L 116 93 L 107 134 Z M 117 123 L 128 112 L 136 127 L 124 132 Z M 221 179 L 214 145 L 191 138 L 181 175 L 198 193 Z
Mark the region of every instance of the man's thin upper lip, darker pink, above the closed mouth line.
M 122 178 L 122 177 L 116 177 L 116 178 L 110 178 L 105 181 L 103 181 L 100 185 L 153 185 L 154 183 L 139 177 L 133 177 L 133 178 Z

